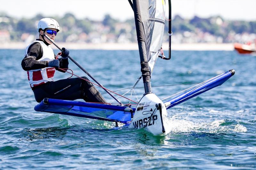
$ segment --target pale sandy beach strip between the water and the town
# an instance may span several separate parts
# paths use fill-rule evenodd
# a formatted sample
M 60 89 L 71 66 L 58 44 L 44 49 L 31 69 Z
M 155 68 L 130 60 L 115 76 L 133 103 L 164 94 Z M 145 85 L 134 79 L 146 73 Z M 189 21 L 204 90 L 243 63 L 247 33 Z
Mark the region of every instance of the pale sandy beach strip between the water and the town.
M 62 43 L 58 42 L 58 46 L 65 47 L 70 50 L 138 50 L 137 43 Z M 9 42 L 0 43 L 0 49 L 25 49 L 29 44 L 25 42 Z M 57 49 L 51 45 L 52 49 Z M 187 51 L 233 51 L 233 43 L 189 43 L 189 44 L 172 44 L 172 50 Z M 163 43 L 164 51 L 169 49 L 169 43 Z

